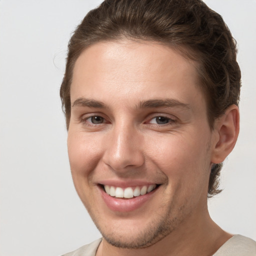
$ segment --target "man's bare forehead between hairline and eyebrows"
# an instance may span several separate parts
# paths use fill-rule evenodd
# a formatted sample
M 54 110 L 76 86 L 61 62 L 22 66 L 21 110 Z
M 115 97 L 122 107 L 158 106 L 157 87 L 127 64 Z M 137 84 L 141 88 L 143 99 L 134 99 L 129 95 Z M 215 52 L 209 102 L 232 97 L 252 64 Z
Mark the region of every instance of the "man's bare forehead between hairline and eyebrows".
M 147 100 L 165 98 L 166 93 L 177 100 L 182 94 L 200 100 L 195 65 L 177 50 L 156 42 L 99 42 L 86 48 L 75 62 L 71 102 L 95 95 L 102 101 L 107 96 L 127 95 Z

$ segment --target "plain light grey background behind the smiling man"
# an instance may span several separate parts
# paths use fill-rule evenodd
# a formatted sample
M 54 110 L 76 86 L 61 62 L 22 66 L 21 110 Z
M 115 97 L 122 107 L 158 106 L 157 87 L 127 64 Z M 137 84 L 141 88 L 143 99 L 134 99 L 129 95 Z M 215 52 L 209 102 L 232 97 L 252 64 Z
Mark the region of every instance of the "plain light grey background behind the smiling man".
M 53 256 L 100 236 L 74 190 L 58 90 L 67 41 L 101 0 L 0 0 L 0 255 Z M 225 230 L 256 239 L 256 0 L 206 0 L 239 45 L 241 129 L 209 200 Z

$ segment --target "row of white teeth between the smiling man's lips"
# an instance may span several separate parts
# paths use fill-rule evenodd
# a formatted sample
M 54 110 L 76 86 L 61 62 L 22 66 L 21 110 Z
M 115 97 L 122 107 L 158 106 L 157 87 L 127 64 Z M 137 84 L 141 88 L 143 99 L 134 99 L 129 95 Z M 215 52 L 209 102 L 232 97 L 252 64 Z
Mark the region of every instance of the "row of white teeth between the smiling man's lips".
M 150 184 L 150 185 L 143 185 L 143 186 L 136 186 L 136 187 L 115 187 L 111 185 L 102 185 L 105 192 L 116 198 L 133 198 L 140 195 L 144 195 L 156 189 L 159 185 L 158 184 Z

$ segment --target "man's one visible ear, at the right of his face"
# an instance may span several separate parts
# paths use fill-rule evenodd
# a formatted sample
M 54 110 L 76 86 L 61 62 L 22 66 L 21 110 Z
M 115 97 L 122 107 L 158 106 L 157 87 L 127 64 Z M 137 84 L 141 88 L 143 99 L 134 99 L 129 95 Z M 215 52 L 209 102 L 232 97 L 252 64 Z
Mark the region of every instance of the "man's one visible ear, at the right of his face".
M 236 105 L 230 105 L 216 121 L 214 125 L 213 148 L 211 154 L 212 163 L 224 161 L 232 151 L 239 133 L 239 109 Z

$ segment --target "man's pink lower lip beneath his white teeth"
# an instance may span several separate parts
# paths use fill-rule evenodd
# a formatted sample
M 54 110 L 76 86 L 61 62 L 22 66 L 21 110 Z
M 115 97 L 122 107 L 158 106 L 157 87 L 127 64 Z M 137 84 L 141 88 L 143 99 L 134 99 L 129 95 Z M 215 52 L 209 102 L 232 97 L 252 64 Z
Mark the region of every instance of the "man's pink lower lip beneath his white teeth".
M 146 201 L 148 201 L 152 197 L 152 195 L 157 189 L 158 188 L 155 188 L 153 191 L 149 193 L 139 195 L 130 199 L 112 197 L 101 188 L 100 191 L 102 198 L 109 209 L 113 211 L 127 212 L 141 207 Z

